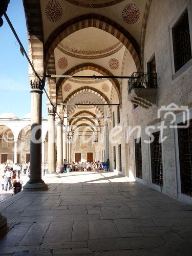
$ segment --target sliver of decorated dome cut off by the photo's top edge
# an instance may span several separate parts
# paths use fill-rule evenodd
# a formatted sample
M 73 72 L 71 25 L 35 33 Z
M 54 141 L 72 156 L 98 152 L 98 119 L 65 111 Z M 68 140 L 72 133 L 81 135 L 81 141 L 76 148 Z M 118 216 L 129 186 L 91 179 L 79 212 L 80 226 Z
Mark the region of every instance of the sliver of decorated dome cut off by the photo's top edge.
M 77 5 L 79 7 L 86 7 L 86 8 L 102 8 L 107 6 L 116 5 L 124 0 L 66 0 L 67 2 Z

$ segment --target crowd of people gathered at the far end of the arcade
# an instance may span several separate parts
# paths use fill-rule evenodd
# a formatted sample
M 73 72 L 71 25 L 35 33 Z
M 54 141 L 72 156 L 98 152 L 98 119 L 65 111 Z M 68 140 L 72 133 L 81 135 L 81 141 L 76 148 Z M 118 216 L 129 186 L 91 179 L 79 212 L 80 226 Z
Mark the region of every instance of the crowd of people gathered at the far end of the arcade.
M 66 172 L 67 168 L 70 168 L 71 172 L 98 172 L 101 170 L 110 170 L 109 159 L 106 162 L 95 161 L 95 162 L 72 162 L 68 163 L 66 159 L 63 161 L 63 165 L 60 166 L 60 173 Z

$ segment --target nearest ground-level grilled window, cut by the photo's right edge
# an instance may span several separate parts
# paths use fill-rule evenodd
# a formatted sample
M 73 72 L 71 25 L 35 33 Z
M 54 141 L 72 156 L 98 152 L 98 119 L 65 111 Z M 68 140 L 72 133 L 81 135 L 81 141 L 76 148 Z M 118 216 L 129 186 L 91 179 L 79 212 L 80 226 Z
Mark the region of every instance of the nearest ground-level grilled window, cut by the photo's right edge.
M 192 197 L 192 119 L 188 128 L 178 129 L 178 142 L 181 193 Z

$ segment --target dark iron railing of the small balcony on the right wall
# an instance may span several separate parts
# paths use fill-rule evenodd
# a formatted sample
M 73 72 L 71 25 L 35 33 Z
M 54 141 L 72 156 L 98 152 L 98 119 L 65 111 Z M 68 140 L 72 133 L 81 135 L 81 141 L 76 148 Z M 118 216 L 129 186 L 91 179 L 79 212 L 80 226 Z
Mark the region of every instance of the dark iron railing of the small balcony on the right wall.
M 157 73 L 134 72 L 132 78 L 128 80 L 128 93 L 135 88 L 157 88 Z

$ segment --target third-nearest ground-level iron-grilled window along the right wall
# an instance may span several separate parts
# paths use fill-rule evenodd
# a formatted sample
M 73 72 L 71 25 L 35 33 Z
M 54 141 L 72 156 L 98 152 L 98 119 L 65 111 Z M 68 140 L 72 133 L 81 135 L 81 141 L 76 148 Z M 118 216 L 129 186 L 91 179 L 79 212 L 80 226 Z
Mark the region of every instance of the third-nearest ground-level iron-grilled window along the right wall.
M 142 153 L 141 153 L 141 138 L 137 143 L 137 139 L 135 139 L 135 169 L 136 169 L 136 177 L 142 179 Z

